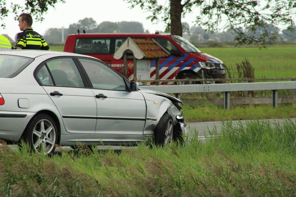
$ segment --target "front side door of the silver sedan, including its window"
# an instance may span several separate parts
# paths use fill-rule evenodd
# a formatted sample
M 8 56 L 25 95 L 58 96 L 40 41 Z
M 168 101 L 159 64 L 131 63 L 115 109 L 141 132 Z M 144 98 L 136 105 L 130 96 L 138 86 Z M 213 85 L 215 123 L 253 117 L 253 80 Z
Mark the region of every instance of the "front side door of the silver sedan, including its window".
M 121 75 L 106 64 L 79 58 L 96 97 L 96 134 L 142 135 L 146 102 L 139 91 L 127 91 Z

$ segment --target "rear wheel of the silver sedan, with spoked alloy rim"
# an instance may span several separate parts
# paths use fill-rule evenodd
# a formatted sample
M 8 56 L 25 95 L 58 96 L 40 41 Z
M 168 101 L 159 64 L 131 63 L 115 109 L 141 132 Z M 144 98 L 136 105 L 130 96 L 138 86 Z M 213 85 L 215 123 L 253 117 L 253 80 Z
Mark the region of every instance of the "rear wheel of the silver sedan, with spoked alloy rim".
M 57 126 L 47 114 L 37 114 L 27 125 L 23 139 L 27 142 L 31 150 L 46 155 L 55 150 L 57 144 Z

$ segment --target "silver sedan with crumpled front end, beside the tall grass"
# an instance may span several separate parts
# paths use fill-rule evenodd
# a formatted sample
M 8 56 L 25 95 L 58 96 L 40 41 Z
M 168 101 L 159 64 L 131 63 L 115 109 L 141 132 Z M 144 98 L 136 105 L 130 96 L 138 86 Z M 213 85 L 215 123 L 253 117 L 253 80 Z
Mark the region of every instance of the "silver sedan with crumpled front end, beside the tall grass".
M 181 103 L 141 90 L 101 60 L 74 53 L 0 52 L 0 139 L 45 154 L 60 146 L 182 141 Z

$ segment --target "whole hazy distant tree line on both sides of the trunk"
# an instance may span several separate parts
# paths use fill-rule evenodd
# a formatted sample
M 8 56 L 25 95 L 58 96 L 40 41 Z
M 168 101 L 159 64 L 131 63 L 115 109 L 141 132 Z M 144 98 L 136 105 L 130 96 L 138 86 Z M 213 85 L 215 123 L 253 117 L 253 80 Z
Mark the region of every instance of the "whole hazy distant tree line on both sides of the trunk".
M 68 34 L 76 34 L 77 29 L 82 33 L 83 30 L 86 33 L 149 33 L 148 30 L 144 30 L 143 24 L 135 21 L 121 21 L 110 22 L 104 21 L 97 24 L 92 18 L 84 18 L 78 21 L 78 23 L 70 24 L 68 28 L 64 28 L 64 41 Z M 223 32 L 209 32 L 200 26 L 190 27 L 188 23 L 182 23 L 183 37 L 190 42 L 206 42 L 209 40 L 214 41 L 234 41 L 237 37 L 237 32 L 234 29 L 228 29 Z M 246 35 L 254 38 L 265 37 L 266 42 L 268 38 L 280 35 L 275 40 L 287 40 L 296 41 L 296 26 L 288 27 L 280 32 L 278 28 L 270 24 L 265 24 L 263 27 L 256 27 L 255 31 L 246 29 L 240 29 L 240 32 L 244 31 Z M 165 33 L 165 32 L 160 32 Z M 169 32 L 166 32 L 169 33 Z M 268 35 L 268 36 L 265 36 Z M 47 42 L 62 42 L 62 28 L 49 28 L 46 30 L 44 37 Z M 273 39 L 271 39 L 273 41 Z

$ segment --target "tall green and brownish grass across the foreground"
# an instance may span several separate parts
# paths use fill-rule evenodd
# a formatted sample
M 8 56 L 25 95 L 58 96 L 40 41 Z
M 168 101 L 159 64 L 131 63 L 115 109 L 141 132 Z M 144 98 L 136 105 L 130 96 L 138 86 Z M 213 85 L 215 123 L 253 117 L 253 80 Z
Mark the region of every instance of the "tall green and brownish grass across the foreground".
M 0 146 L 0 196 L 295 196 L 296 125 L 224 122 L 206 143 L 52 157 Z

